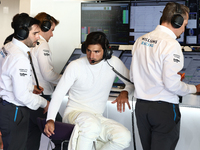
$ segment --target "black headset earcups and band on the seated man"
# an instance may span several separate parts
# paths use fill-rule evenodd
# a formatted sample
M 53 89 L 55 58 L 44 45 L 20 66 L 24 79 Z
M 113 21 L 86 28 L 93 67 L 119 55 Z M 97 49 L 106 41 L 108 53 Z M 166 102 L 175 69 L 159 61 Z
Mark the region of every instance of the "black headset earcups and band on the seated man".
M 103 53 L 103 58 L 102 59 L 110 59 L 112 57 L 112 49 L 109 48 L 109 45 L 108 45 L 108 39 L 106 38 L 106 35 L 103 33 L 103 32 L 96 32 L 94 34 L 97 34 L 97 36 L 99 36 L 100 38 L 103 38 L 104 39 L 104 47 L 103 50 L 104 50 L 104 53 Z M 96 36 L 96 35 L 94 35 Z M 87 40 L 87 39 L 86 39 Z M 85 45 L 86 41 L 82 43 L 82 46 L 81 46 L 81 51 L 82 53 L 86 54 L 86 45 Z

